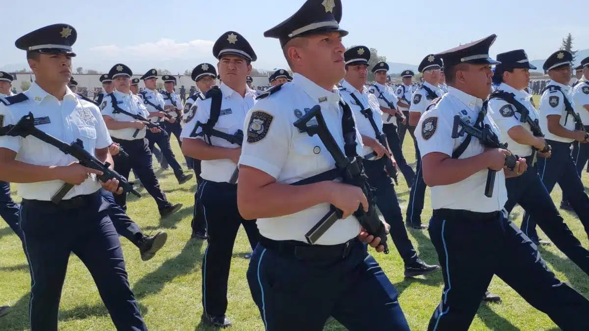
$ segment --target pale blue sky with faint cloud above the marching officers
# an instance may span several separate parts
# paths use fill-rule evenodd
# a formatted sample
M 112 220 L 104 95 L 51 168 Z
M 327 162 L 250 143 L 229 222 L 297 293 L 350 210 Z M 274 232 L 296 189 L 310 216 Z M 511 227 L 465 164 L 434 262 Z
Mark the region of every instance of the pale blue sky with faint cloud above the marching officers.
M 213 42 L 224 32 L 244 35 L 258 55 L 254 67 L 286 67 L 277 39 L 263 32 L 292 15 L 303 0 L 2 0 L 4 65 L 26 64 L 14 47 L 21 35 L 58 22 L 78 31 L 74 67 L 108 70 L 116 62 L 136 73 L 151 67 L 173 71 L 200 62 L 216 63 Z M 390 62 L 419 64 L 429 54 L 490 34 L 498 38 L 491 54 L 524 48 L 543 59 L 560 47 L 568 32 L 575 49 L 589 48 L 589 20 L 583 0 L 343 0 L 346 46 L 375 47 Z

